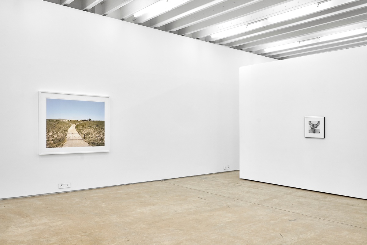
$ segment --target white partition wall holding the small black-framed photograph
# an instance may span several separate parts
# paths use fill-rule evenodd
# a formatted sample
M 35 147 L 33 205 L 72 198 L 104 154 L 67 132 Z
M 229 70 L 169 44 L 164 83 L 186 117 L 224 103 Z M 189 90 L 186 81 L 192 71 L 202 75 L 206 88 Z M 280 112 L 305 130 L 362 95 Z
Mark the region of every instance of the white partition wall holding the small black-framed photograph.
M 367 46 L 240 68 L 240 177 L 367 199 Z M 325 138 L 304 117 L 325 116 Z

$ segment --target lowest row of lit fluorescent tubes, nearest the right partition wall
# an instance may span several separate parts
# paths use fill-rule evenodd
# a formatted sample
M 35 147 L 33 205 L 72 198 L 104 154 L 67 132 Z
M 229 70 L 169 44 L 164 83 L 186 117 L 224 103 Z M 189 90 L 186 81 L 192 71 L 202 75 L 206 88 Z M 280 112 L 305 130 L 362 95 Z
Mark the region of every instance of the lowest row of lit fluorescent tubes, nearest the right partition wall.
M 278 46 L 274 46 L 274 47 L 270 47 L 270 48 L 264 48 L 264 51 L 266 53 L 270 53 L 270 52 L 274 52 L 274 51 L 285 50 L 285 49 L 288 49 L 288 48 L 295 48 L 295 47 L 305 46 L 305 45 L 313 44 L 313 43 L 317 43 L 317 42 L 324 42 L 324 41 L 329 41 L 329 40 L 341 39 L 341 38 L 344 38 L 344 37 L 355 36 L 355 35 L 359 35 L 359 34 L 363 34 L 363 33 L 367 33 L 367 27 L 354 29 L 354 30 L 348 30 L 348 31 L 345 31 L 345 32 L 334 33 L 334 34 L 321 36 L 321 37 L 316 37 L 316 38 L 312 38 L 312 39 L 301 40 L 301 41 L 298 41 L 298 42 L 282 44 L 282 45 L 278 45 Z

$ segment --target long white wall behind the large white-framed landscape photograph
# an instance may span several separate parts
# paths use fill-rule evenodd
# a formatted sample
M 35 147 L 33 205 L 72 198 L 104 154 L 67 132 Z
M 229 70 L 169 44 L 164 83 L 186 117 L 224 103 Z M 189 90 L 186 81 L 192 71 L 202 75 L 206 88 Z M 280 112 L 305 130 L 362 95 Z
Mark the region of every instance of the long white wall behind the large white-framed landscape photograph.
M 239 169 L 238 69 L 272 59 L 41 0 L 0 8 L 0 198 Z M 110 96 L 110 152 L 38 155 L 38 91 Z

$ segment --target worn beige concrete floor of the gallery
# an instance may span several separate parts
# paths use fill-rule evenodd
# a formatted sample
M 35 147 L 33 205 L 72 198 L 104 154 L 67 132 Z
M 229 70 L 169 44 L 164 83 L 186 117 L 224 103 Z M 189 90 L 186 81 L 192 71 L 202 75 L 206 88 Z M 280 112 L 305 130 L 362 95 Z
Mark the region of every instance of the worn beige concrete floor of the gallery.
M 0 244 L 367 244 L 367 200 L 239 172 L 0 200 Z

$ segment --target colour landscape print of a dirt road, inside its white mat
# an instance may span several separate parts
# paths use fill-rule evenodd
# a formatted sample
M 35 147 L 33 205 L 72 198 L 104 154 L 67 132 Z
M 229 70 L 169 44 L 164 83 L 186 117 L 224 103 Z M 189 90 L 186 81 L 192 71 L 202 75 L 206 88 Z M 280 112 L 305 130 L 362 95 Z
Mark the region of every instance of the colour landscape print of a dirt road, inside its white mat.
M 46 148 L 105 146 L 105 102 L 46 99 Z

